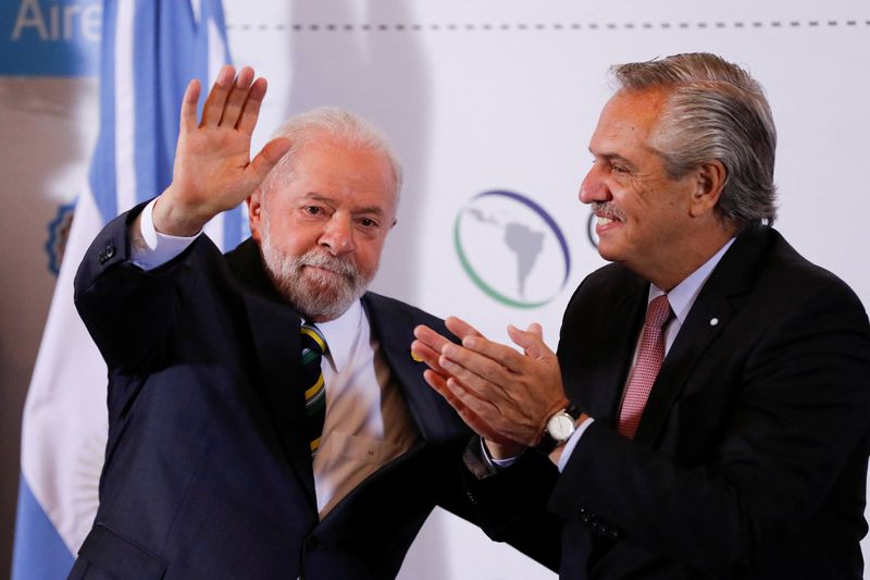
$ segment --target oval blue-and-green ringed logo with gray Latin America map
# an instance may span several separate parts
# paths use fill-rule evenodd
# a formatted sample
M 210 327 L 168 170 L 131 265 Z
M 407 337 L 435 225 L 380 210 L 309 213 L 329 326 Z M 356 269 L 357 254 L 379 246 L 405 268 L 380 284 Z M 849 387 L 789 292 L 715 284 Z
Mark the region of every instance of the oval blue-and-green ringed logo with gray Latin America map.
M 453 246 L 471 281 L 514 308 L 546 305 L 571 275 L 571 254 L 556 220 L 513 192 L 471 198 L 457 214 Z

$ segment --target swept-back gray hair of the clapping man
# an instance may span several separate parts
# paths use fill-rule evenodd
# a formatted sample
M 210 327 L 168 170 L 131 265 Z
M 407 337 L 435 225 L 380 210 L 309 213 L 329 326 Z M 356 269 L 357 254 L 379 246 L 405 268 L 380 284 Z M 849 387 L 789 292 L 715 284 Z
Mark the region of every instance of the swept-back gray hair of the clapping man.
M 776 127 L 763 89 L 749 73 L 706 52 L 616 65 L 625 90 L 668 91 L 655 148 L 672 177 L 710 160 L 728 172 L 716 211 L 743 227 L 776 218 Z

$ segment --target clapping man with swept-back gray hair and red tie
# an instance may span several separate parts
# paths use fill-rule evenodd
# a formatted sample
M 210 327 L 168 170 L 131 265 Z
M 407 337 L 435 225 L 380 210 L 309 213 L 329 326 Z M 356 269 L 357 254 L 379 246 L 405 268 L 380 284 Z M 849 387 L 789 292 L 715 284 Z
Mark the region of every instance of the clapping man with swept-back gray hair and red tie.
M 613 263 L 574 293 L 558 354 L 537 324 L 509 326 L 522 353 L 455 318 L 461 346 L 415 331 L 480 434 L 485 529 L 561 530 L 567 579 L 859 580 L 870 330 L 772 227 L 761 87 L 707 53 L 613 74 L 580 188 Z

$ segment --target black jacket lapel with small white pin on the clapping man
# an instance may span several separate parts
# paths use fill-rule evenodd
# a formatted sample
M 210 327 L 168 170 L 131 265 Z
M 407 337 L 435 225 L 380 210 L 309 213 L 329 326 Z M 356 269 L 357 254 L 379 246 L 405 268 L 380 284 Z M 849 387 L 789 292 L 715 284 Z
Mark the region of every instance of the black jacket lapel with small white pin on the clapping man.
M 658 437 L 695 365 L 738 312 L 738 296 L 749 289 L 751 273 L 769 237 L 766 229 L 747 229 L 710 274 L 664 358 L 637 428 L 636 441 L 652 443 Z

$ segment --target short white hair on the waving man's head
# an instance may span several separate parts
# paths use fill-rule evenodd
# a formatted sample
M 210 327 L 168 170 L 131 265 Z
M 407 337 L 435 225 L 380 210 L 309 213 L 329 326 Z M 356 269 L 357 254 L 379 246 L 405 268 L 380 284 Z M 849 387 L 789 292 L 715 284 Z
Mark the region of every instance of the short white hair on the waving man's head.
M 261 188 L 264 194 L 273 190 L 279 180 L 291 180 L 299 153 L 319 138 L 326 137 L 351 148 L 368 149 L 384 156 L 393 170 L 391 194 L 398 209 L 402 184 L 401 163 L 384 133 L 371 121 L 336 107 L 318 107 L 285 121 L 273 137 L 287 137 L 291 145 L 263 181 Z

